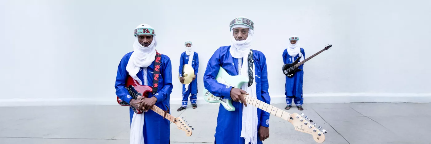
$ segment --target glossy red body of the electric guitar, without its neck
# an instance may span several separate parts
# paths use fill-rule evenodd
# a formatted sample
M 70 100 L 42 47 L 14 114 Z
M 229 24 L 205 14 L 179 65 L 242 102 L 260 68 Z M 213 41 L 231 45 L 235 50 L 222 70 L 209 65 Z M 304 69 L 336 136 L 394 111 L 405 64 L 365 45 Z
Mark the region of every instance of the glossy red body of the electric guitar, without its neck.
M 126 80 L 126 89 L 129 92 L 129 95 L 133 99 L 137 99 L 137 97 L 148 97 L 148 94 L 153 92 L 153 88 L 145 85 L 139 85 L 136 80 L 134 80 L 131 76 L 128 76 Z M 121 100 L 117 97 L 117 102 L 121 106 L 130 106 L 135 113 L 142 113 L 139 110 L 136 110 L 133 106 L 131 106 L 128 102 Z

